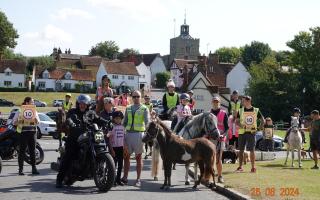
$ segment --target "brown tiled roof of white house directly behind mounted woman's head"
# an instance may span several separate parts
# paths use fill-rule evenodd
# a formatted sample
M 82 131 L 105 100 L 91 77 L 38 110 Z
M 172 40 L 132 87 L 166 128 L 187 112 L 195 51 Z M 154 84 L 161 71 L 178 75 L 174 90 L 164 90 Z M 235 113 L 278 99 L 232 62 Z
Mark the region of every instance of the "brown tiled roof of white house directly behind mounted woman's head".
M 103 64 L 108 74 L 139 76 L 137 68 L 133 62 L 103 61 Z

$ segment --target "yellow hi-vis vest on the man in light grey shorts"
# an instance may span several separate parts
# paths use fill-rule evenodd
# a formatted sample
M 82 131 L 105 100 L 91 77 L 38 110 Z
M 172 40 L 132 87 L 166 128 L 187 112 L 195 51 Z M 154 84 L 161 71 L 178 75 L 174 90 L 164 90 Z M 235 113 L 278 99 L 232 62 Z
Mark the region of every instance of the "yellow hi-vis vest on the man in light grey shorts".
M 145 105 L 141 105 L 132 116 L 132 106 L 127 107 L 128 123 L 126 126 L 127 131 L 144 132 L 146 125 L 144 123 L 144 112 L 147 110 Z

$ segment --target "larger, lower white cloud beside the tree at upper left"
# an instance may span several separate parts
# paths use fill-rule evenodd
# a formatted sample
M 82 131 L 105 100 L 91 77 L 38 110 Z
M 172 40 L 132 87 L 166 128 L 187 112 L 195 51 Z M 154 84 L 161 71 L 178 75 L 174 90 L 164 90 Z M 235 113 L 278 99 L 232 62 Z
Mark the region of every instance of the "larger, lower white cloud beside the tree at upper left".
M 25 40 L 32 40 L 42 45 L 54 45 L 61 43 L 71 43 L 73 38 L 70 33 L 56 27 L 52 24 L 48 24 L 40 32 L 27 32 L 22 35 Z

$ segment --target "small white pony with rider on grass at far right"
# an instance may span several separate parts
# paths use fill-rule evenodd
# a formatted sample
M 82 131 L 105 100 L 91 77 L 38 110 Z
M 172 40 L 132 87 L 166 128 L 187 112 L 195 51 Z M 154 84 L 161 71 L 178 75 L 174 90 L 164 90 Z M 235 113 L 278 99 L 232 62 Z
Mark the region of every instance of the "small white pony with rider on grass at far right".
M 298 161 L 299 161 L 299 168 L 302 167 L 301 164 L 301 147 L 302 147 L 302 136 L 299 131 L 299 119 L 297 117 L 291 117 L 291 128 L 290 133 L 288 136 L 288 145 L 287 145 L 287 157 L 286 161 L 284 162 L 284 165 L 287 165 L 287 160 L 289 156 L 289 151 L 291 151 L 292 155 L 292 162 L 291 167 L 293 167 L 293 161 L 294 161 L 294 150 L 298 150 Z

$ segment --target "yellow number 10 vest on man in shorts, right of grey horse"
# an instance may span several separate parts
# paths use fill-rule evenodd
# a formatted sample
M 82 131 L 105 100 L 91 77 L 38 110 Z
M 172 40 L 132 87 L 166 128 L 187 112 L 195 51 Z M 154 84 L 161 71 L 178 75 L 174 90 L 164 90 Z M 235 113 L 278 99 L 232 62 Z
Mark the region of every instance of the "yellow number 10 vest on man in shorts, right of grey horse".
M 242 128 L 239 129 L 239 134 L 245 132 L 255 133 L 258 130 L 257 116 L 259 108 L 253 108 L 253 112 L 244 112 L 244 107 L 240 109 L 240 124 Z

